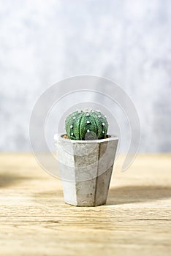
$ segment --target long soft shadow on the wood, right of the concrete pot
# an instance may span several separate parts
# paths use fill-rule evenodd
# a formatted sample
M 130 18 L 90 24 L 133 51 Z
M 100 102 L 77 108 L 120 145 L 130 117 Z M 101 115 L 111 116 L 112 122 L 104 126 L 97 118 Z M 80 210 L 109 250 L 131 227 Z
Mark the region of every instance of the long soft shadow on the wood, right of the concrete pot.
M 107 205 L 127 203 L 142 203 L 151 200 L 161 200 L 171 197 L 171 187 L 168 186 L 126 186 L 110 188 Z

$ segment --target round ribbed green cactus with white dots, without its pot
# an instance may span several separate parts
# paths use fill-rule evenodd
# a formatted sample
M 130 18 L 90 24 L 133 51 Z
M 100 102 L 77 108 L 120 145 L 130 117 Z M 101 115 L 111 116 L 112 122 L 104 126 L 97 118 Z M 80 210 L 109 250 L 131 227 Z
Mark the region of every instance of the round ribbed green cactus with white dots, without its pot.
M 65 129 L 70 140 L 104 139 L 108 122 L 99 110 L 77 110 L 66 117 Z

